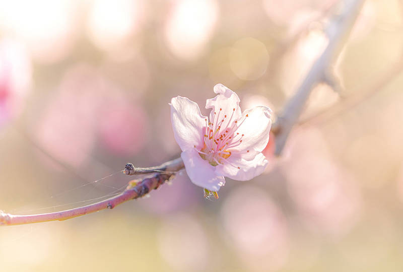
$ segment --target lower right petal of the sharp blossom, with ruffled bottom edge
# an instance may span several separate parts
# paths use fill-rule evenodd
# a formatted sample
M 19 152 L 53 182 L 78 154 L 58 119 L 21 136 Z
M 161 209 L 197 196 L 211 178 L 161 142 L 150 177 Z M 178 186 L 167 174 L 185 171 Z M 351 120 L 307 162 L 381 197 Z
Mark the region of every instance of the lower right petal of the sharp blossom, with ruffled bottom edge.
M 261 152 L 253 151 L 253 153 L 255 156 L 251 160 L 246 160 L 241 153 L 232 154 L 227 159 L 227 163 L 216 166 L 217 175 L 235 180 L 249 180 L 260 175 L 268 161 Z

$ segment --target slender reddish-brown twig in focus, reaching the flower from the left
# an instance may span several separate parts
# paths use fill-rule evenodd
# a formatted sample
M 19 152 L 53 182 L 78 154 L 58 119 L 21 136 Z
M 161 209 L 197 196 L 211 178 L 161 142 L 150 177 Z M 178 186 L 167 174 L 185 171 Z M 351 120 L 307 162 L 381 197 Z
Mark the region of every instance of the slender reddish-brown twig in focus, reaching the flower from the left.
M 181 158 L 164 163 L 157 167 L 152 167 L 153 170 L 151 170 L 151 173 L 160 171 L 161 172 L 155 174 L 152 177 L 145 178 L 136 184 L 129 182 L 127 188 L 122 193 L 116 196 L 71 210 L 65 210 L 47 214 L 37 214 L 37 215 L 12 215 L 0 211 L 0 226 L 22 225 L 22 224 L 31 224 L 47 221 L 56 221 L 56 220 L 62 221 L 78 216 L 91 214 L 105 209 L 113 209 L 114 207 L 120 205 L 121 203 L 124 203 L 130 199 L 136 199 L 142 197 L 148 194 L 151 190 L 158 189 L 160 185 L 164 184 L 166 180 L 172 178 L 175 175 L 175 173 L 183 169 L 183 167 L 184 165 Z M 125 170 L 123 170 L 122 172 L 126 173 Z M 142 173 L 139 172 L 139 174 Z

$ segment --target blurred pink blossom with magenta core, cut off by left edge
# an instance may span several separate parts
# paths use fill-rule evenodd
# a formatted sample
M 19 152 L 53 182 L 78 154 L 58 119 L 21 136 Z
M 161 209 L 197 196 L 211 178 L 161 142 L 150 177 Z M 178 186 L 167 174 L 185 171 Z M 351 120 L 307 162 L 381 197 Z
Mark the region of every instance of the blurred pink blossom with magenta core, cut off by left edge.
M 25 47 L 0 40 L 0 126 L 21 112 L 31 85 L 31 60 Z

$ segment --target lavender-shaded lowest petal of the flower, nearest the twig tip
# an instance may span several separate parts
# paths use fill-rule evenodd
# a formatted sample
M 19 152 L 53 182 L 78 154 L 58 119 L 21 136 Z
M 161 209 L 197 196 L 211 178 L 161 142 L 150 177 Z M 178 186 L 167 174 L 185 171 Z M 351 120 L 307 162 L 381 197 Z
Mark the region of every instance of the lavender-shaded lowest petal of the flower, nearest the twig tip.
M 180 157 L 191 182 L 197 186 L 211 191 L 218 191 L 225 184 L 224 177 L 217 175 L 215 167 L 210 165 L 208 161 L 203 160 L 196 150 L 184 151 Z

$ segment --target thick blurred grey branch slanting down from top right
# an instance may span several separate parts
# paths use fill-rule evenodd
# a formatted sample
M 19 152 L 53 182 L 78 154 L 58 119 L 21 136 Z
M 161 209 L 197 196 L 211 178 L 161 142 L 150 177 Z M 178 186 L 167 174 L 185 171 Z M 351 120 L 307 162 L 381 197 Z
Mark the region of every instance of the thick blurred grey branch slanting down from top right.
M 327 82 L 328 67 L 334 56 L 340 50 L 343 38 L 349 33 L 351 24 L 354 22 L 362 0 L 344 0 L 340 13 L 330 20 L 325 30 L 328 37 L 328 45 L 323 53 L 313 63 L 311 70 L 298 88 L 296 94 L 284 107 L 282 114 L 273 126 L 276 133 L 276 155 L 280 155 L 290 134 L 296 124 L 302 109 L 313 89 L 317 84 Z

